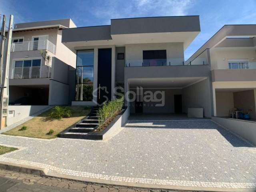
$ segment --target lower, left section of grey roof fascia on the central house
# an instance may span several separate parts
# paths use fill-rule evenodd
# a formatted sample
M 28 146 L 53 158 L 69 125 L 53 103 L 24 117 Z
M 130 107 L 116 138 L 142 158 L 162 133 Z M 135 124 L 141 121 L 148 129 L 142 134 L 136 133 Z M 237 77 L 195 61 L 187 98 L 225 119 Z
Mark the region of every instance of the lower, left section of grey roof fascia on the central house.
M 110 25 L 62 30 L 62 42 L 111 40 Z

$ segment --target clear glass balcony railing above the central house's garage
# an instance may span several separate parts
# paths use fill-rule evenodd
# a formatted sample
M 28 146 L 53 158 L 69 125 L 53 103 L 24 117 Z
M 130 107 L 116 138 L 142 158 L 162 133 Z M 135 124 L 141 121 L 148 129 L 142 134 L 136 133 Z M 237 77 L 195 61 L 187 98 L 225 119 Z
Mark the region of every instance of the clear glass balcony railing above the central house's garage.
M 186 62 L 184 61 L 184 58 L 126 60 L 126 67 L 180 66 L 180 65 L 207 65 L 207 59 L 196 58 L 196 60 L 193 60 L 192 62 Z

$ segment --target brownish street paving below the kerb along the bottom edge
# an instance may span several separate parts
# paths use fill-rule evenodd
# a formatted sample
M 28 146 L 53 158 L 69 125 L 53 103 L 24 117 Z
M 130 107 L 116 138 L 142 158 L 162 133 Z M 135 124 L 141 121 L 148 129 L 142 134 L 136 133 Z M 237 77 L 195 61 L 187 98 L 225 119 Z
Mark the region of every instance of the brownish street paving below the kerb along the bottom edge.
M 0 169 L 1 192 L 174 192 L 172 190 L 149 190 L 122 186 L 108 186 L 47 178 Z M 180 191 L 186 192 L 186 191 Z

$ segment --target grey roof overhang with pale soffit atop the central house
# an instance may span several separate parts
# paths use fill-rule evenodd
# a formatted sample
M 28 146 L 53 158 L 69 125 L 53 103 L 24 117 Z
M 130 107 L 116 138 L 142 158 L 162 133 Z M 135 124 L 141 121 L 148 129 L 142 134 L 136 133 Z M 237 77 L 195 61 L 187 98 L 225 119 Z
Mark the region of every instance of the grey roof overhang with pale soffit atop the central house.
M 83 46 L 183 42 L 185 50 L 199 32 L 199 16 L 114 19 L 107 26 L 65 29 L 62 43 L 76 50 Z

